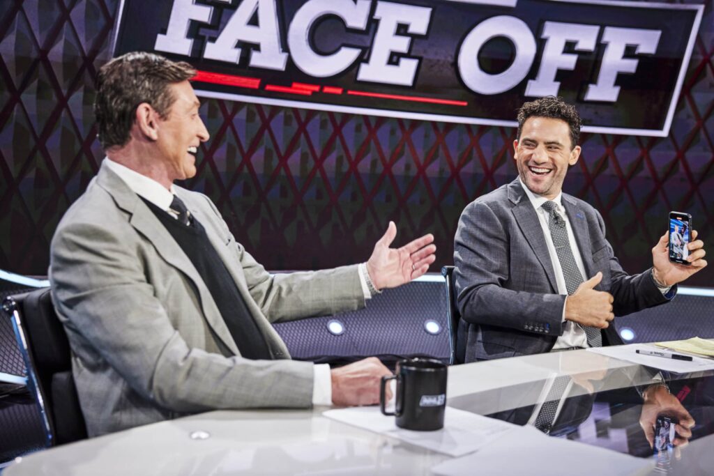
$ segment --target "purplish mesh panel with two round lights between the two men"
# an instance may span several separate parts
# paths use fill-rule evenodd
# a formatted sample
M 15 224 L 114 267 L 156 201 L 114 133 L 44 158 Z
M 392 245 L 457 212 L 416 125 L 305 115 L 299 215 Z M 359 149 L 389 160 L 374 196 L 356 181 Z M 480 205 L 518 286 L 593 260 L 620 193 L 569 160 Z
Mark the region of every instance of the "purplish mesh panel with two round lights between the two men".
M 391 366 L 428 356 L 449 363 L 447 308 L 443 278 L 429 274 L 383 290 L 361 310 L 274 326 L 296 360 L 338 365 L 376 356 Z

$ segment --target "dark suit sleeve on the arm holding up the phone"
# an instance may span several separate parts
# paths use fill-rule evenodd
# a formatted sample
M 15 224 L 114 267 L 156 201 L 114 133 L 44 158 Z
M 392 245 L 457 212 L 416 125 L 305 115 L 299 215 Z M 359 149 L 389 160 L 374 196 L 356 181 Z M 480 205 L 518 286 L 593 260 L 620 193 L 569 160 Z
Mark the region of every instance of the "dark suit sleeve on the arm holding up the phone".
M 598 228 L 603 236 L 604 245 L 600 250 L 593 250 L 593 259 L 597 259 L 595 266 L 600 261 L 606 260 L 603 269 L 610 274 L 610 294 L 613 295 L 613 313 L 627 315 L 638 310 L 651 308 L 655 305 L 668 303 L 674 298 L 677 288 L 673 286 L 666 295 L 657 288 L 652 279 L 652 268 L 643 273 L 629 275 L 625 273 L 618 258 L 615 258 L 613 247 L 605 240 L 605 222 L 600 213 L 595 210 L 598 217 Z

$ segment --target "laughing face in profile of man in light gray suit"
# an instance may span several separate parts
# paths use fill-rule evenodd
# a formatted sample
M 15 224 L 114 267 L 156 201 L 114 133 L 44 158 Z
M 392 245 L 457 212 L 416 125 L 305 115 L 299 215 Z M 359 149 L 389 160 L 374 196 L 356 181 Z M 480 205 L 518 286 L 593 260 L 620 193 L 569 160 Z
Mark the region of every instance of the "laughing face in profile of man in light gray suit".
M 208 141 L 208 131 L 198 116 L 201 104 L 191 83 L 183 81 L 169 86 L 174 103 L 165 119 L 159 119 L 156 139 L 158 160 L 166 168 L 170 181 L 196 175 L 196 153 L 201 142 Z

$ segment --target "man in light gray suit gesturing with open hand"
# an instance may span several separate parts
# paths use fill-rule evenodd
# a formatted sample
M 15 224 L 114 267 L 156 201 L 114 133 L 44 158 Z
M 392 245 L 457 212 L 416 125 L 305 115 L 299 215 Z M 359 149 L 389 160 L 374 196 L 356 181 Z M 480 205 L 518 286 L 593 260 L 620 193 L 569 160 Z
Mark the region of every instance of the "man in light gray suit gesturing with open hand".
M 186 63 L 126 54 L 99 72 L 107 158 L 62 218 L 49 276 L 89 435 L 223 408 L 368 405 L 389 371 L 290 360 L 271 322 L 354 310 L 433 263 L 433 236 L 402 248 L 390 223 L 361 265 L 271 275 L 201 193 L 208 140 Z

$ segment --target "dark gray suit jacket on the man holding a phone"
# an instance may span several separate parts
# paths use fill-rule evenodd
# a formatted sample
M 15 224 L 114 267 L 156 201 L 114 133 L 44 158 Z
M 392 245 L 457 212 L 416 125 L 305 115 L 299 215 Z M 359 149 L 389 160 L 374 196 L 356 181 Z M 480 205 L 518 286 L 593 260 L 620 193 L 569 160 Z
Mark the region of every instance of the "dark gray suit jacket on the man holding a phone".
M 668 302 L 650 276 L 623 271 L 605 239 L 600 213 L 563 193 L 588 277 L 603 272 L 596 289 L 613 295 L 615 315 Z M 466 362 L 549 352 L 563 334 L 565 295 L 558 294 L 543 228 L 515 181 L 476 198 L 461 214 L 454 242 L 458 308 L 468 324 Z M 614 325 L 603 345 L 622 343 Z

